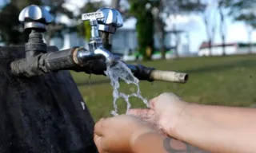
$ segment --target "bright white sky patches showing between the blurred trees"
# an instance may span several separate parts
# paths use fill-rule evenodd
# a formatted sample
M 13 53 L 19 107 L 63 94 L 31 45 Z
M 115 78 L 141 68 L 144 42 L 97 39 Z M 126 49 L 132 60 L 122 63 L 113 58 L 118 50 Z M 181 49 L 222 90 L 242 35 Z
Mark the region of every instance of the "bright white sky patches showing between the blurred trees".
M 94 0 L 98 1 L 98 0 Z M 0 6 L 3 4 L 4 0 L 0 0 Z M 67 5 L 70 10 L 78 10 L 85 4 L 86 0 L 67 0 L 69 5 Z M 111 0 L 105 0 L 106 3 L 110 4 Z M 62 18 L 65 20 L 65 18 Z M 217 17 L 218 21 L 218 17 Z M 166 29 L 171 29 L 173 26 L 174 19 L 166 18 Z M 207 40 L 206 29 L 200 15 L 190 15 L 190 16 L 179 16 L 176 20 L 178 27 L 186 29 L 190 36 L 190 51 L 197 52 L 202 41 Z M 136 24 L 136 19 L 124 22 L 122 28 L 134 28 Z M 216 22 L 217 26 L 219 22 Z M 231 18 L 226 18 L 226 43 L 234 42 L 247 42 L 248 41 L 248 27 L 242 22 L 234 22 Z M 185 36 L 182 37 L 182 41 L 185 42 Z M 256 32 L 252 34 L 252 41 L 256 42 Z M 216 29 L 215 43 L 221 43 L 221 37 L 219 34 L 219 28 Z

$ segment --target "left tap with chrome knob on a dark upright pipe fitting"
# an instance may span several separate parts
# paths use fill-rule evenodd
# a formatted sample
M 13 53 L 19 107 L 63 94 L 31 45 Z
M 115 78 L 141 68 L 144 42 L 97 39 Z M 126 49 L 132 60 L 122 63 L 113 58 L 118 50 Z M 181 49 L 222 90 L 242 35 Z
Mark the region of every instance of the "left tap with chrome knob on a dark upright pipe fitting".
M 17 76 L 32 77 L 45 73 L 38 68 L 42 54 L 47 53 L 47 45 L 42 40 L 42 33 L 46 32 L 46 26 L 53 21 L 50 13 L 41 6 L 27 6 L 18 17 L 24 25 L 24 30 L 30 31 L 28 42 L 25 44 L 26 57 L 13 61 L 10 64 L 11 71 Z

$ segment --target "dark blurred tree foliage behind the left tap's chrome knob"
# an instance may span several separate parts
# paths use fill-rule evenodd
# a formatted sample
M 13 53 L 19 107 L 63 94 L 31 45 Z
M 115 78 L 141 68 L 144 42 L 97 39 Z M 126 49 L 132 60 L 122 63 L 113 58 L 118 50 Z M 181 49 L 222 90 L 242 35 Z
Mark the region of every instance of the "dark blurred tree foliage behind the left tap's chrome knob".
M 27 41 L 28 34 L 24 34 L 21 23 L 18 22 L 18 15 L 26 6 L 32 4 L 38 6 L 49 6 L 50 14 L 54 17 L 54 22 L 47 27 L 46 31 L 46 44 L 50 44 L 52 37 L 62 37 L 63 32 L 70 32 L 74 30 L 74 27 L 66 26 L 66 24 L 58 22 L 56 18 L 60 15 L 66 15 L 68 18 L 73 18 L 73 13 L 67 10 L 63 4 L 64 0 L 11 0 L 6 6 L 3 6 L 0 12 L 0 29 L 1 29 L 1 41 L 6 45 L 24 44 Z

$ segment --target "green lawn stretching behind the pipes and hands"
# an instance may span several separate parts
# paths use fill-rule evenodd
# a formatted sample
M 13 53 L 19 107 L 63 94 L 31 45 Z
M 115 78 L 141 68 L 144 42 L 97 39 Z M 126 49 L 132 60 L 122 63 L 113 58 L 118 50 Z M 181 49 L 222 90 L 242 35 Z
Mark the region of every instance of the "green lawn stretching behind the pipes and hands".
M 142 65 L 161 70 L 188 73 L 186 84 L 147 81 L 140 82 L 142 96 L 148 100 L 162 92 L 174 92 L 189 102 L 250 107 L 256 104 L 256 56 L 194 57 L 169 61 L 147 61 Z M 73 73 L 74 80 L 90 109 L 94 120 L 110 116 L 113 108 L 112 87 L 106 77 Z M 130 93 L 134 86 L 121 83 L 121 91 Z M 132 108 L 144 108 L 142 100 L 131 98 Z M 125 112 L 126 104 L 118 100 L 120 112 Z

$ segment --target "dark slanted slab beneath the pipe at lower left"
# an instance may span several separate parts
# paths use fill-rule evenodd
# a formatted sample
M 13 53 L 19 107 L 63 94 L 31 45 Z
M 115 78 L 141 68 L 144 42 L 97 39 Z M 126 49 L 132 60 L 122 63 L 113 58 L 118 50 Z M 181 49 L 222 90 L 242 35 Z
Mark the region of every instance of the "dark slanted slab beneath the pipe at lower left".
M 14 77 L 10 63 L 24 57 L 24 46 L 0 47 L 0 152 L 97 152 L 94 121 L 69 71 Z

